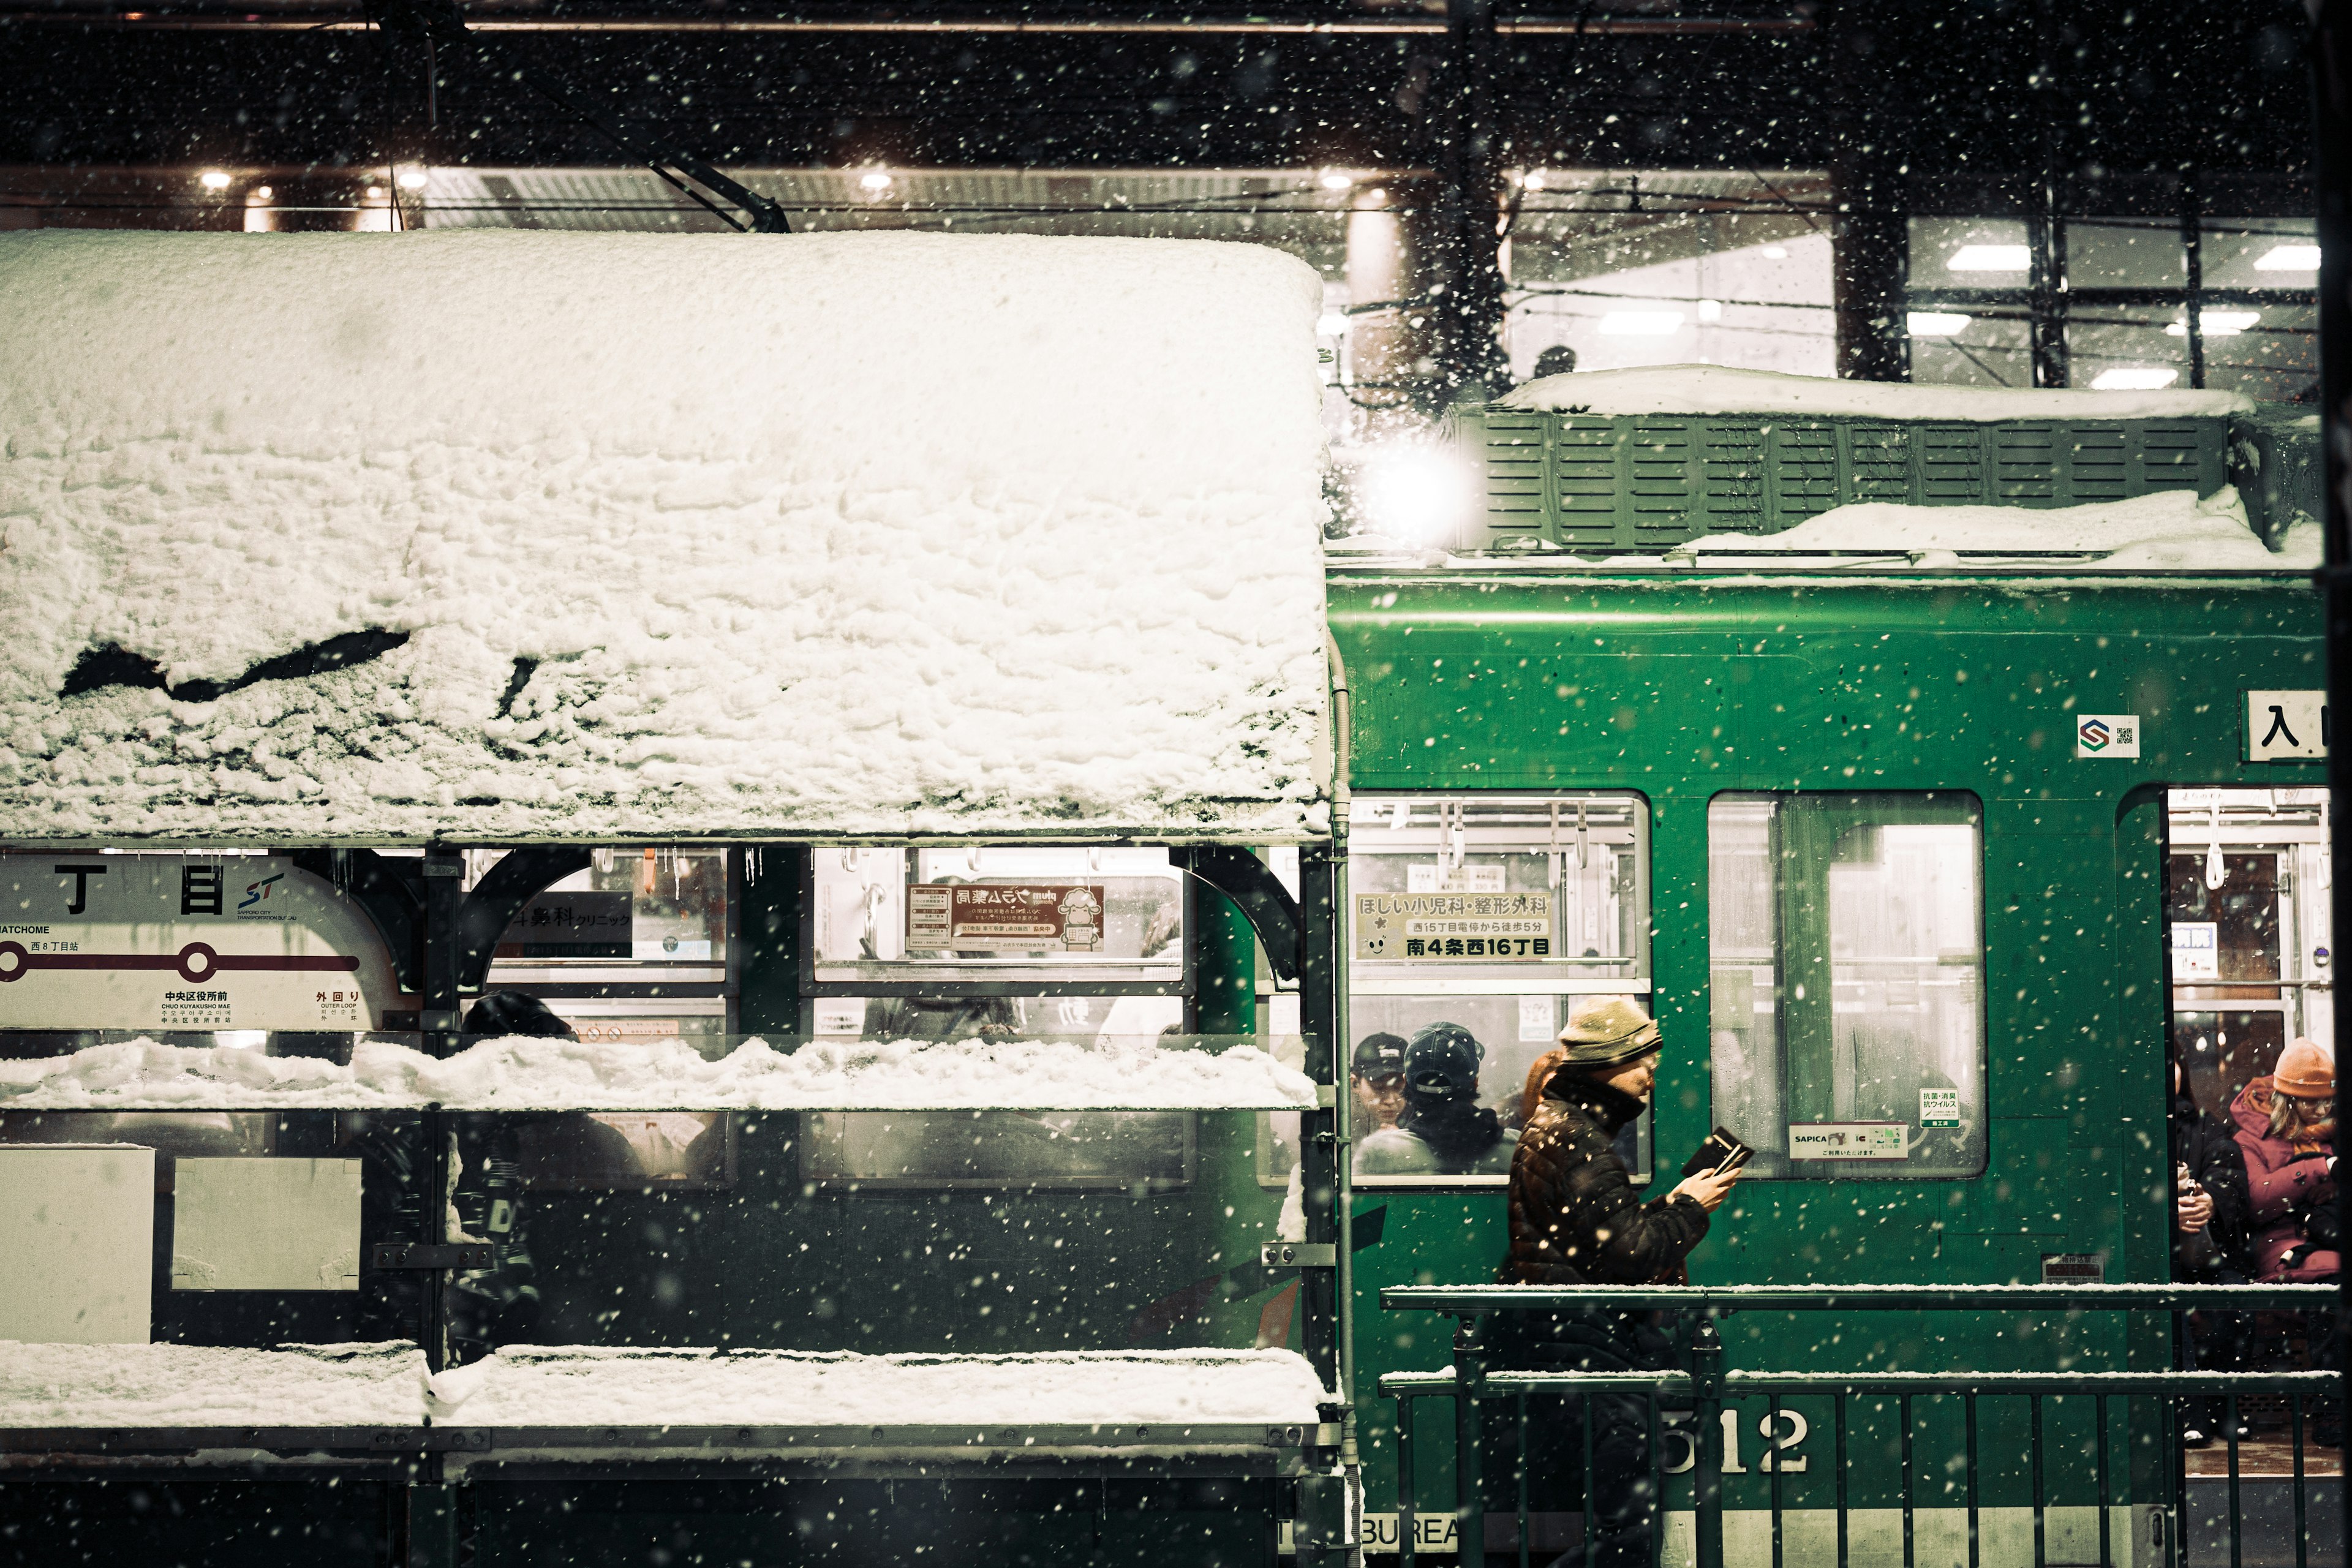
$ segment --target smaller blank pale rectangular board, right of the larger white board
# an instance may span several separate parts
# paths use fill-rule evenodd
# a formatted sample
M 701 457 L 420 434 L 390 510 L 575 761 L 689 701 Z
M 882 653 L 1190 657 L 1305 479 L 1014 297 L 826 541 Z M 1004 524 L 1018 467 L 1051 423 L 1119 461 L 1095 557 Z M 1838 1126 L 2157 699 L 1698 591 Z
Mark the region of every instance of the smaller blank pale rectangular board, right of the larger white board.
M 174 1291 L 358 1291 L 358 1159 L 191 1159 L 172 1171 Z

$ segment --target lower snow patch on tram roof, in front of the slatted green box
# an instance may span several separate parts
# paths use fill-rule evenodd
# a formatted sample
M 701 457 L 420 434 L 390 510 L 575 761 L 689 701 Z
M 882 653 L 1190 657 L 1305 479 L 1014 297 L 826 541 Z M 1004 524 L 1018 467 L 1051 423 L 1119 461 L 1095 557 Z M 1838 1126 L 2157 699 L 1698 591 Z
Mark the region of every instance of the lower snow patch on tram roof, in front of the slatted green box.
M 2056 552 L 2100 555 L 2107 571 L 2154 569 L 2310 569 L 2319 564 L 2319 529 L 2288 529 L 2286 550 L 2270 550 L 2246 524 L 2234 489 L 2206 498 L 2159 491 L 2098 505 L 1891 505 L 1860 501 L 1780 534 L 1708 534 L 1682 545 L 1693 555 L 1907 550 L 1907 552 Z

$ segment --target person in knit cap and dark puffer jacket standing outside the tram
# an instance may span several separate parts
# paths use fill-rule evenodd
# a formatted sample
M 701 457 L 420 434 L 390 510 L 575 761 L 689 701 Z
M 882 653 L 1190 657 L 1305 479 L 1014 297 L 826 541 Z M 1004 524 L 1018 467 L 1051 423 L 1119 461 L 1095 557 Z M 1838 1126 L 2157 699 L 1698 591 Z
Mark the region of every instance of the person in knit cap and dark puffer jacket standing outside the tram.
M 1559 1032 L 1559 1067 L 1510 1161 L 1510 1251 L 1496 1279 L 1524 1286 L 1686 1284 L 1684 1260 L 1740 1178 L 1738 1152 L 1642 1201 L 1616 1154 L 1616 1135 L 1649 1105 L 1663 1048 L 1658 1025 L 1623 997 L 1595 999 Z M 1486 1319 L 1496 1366 L 1642 1371 L 1670 1345 L 1646 1314 L 1496 1312 Z M 1564 1453 L 1581 1460 L 1581 1410 L 1592 1420 L 1595 1535 L 1555 1568 L 1646 1568 L 1658 1469 L 1649 1410 L 1630 1392 L 1562 1401 Z

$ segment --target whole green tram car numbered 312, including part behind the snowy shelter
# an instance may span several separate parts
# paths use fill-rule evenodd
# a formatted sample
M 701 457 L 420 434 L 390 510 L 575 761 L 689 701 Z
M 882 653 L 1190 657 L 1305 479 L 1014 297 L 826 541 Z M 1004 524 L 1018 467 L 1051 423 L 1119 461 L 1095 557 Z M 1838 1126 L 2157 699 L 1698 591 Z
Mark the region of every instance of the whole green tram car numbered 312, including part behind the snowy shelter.
M 1576 524 L 1562 522 L 1559 473 L 1541 477 L 1529 512 L 1515 468 L 1529 428 L 1543 447 L 1573 423 L 1522 418 L 1515 449 L 1494 433 L 1512 421 L 1472 433 L 1496 498 L 1489 517 L 1526 529 L 1534 515 L 1552 550 L 1482 538 L 1468 543 L 1484 550 L 1331 557 L 1348 693 L 1348 1227 L 1327 1262 L 1343 1291 L 1348 1387 L 1327 1429 L 1338 1434 L 1348 1415 L 1352 1432 L 1315 1465 L 1357 1460 L 1371 1554 L 1395 1552 L 1404 1502 L 1395 1403 L 1378 1380 L 1442 1371 L 1451 1356 L 1446 1316 L 1388 1309 L 1383 1291 L 1489 1281 L 1505 1244 L 1505 1178 L 1491 1159 L 1454 1173 L 1367 1159 L 1383 1107 L 1374 1084 L 1345 1074 L 1364 1039 L 1461 1025 L 1482 1046 L 1479 1100 L 1508 1128 L 1569 1011 L 1632 997 L 1665 1032 L 1653 1114 L 1625 1140 L 1637 1173 L 1663 1190 L 1717 1124 L 1759 1150 L 1691 1258 L 1696 1281 L 1992 1286 L 2169 1279 L 2169 1056 L 2183 1053 L 2204 1103 L 2220 1105 L 2284 1039 L 2331 1027 L 2321 621 L 2305 567 L 2112 567 L 2063 538 L 2044 552 L 1926 559 L 1898 545 L 1710 552 L 1686 548 L 1719 529 L 1693 505 L 1677 527 L 1653 515 L 1646 534 L 1592 541 L 1562 534 Z M 1851 430 L 1830 421 L 1830 435 L 1851 449 Z M 2161 442 L 2126 435 L 2140 480 L 2180 480 L 2145 456 Z M 2096 449 L 2093 437 L 2065 440 Z M 1661 447 L 1642 430 L 1611 440 L 1628 473 Z M 2234 447 L 2220 421 L 2171 447 L 2194 458 L 2180 482 L 2216 491 L 2225 475 L 2206 458 Z M 1832 475 L 1830 501 L 1849 498 L 1842 482 Z M 2082 498 L 2051 491 L 2039 503 Z M 2284 534 L 2277 503 L 2267 524 Z M 1769 531 L 1748 541 L 1769 543 Z M 619 872 L 600 860 L 595 886 L 630 886 L 637 853 L 621 846 Z M 734 954 L 708 997 L 675 992 L 673 1013 L 691 1001 L 713 1027 L 743 1034 L 856 1034 L 868 1009 L 887 1013 L 913 990 L 861 971 L 854 929 L 842 936 L 877 875 L 856 851 L 642 853 L 642 886 L 675 893 L 670 919 L 708 914 L 687 940 L 715 943 L 706 957 Z M 1268 858 L 1289 870 L 1282 853 Z M 1044 872 L 1058 863 L 1030 875 Z M 696 879 L 701 893 L 687 898 L 680 889 Z M 1033 978 L 997 987 L 993 1004 L 1033 1032 L 1051 1018 L 1098 1032 L 1112 1027 L 1108 1009 L 1157 1006 L 1183 1032 L 1294 1034 L 1291 983 L 1268 971 L 1251 924 L 1188 886 L 1181 940 L 1157 969 L 1089 985 Z M 1437 924 L 1416 933 L 1414 919 Z M 1479 922 L 1503 929 L 1477 933 Z M 524 945 L 489 980 L 524 985 L 534 961 L 557 959 Z M 626 992 L 543 990 L 576 1016 Z M 329 1147 L 332 1114 L 278 1117 L 275 1147 Z M 920 1159 L 906 1145 L 884 1159 L 861 1143 L 858 1117 L 891 1119 L 739 1112 L 710 1145 L 722 1159 L 694 1180 L 600 1182 L 548 1154 L 532 1192 L 541 1340 L 1317 1349 L 1312 1274 L 1324 1260 L 1277 1241 L 1298 1241 L 1282 1211 L 1296 1201 L 1298 1128 L 1312 1135 L 1312 1112 L 1124 1126 L 1056 1180 L 1004 1164 L 1044 1135 L 1037 1119 L 898 1117 L 938 1135 Z M 7 1121 L 12 1138 L 38 1135 L 21 1112 Z M 990 1150 L 1014 1152 L 990 1164 Z M 1298 1260 L 1312 1265 L 1303 1291 Z M 155 1300 L 158 1340 L 358 1338 L 348 1298 Z M 1766 1371 L 2173 1366 L 2161 1312 L 1740 1312 L 1724 1340 L 1731 1366 Z M 2173 1561 L 2161 1401 L 2117 1401 L 2114 1420 L 2091 1401 L 2056 1401 L 2034 1429 L 2025 1399 L 1987 1401 L 1980 1429 L 1964 1429 L 1955 1399 L 1922 1394 L 1915 1406 L 1903 1429 L 1893 1399 L 1851 1401 L 1844 1427 L 1828 1399 L 1736 1403 L 1719 1443 L 1726 1561 L 1780 1568 L 1759 1523 L 1776 1495 L 1813 1512 L 1780 1542 L 1788 1561 L 1839 1561 L 1825 1556 L 1820 1512 L 1842 1467 L 1856 1563 L 2089 1563 L 2103 1507 L 2112 1561 Z M 1508 1410 L 1491 1415 L 1496 1521 L 1515 1507 L 1517 1469 L 1496 1458 L 1510 1450 Z M 1691 1561 L 1700 1443 L 1686 1427 L 1670 1436 L 1682 1441 L 1663 1453 L 1665 1554 Z M 1907 1500 L 1903 1455 L 1922 1476 Z M 1987 1509 L 1978 1542 L 1959 1521 L 1969 1462 Z M 1524 1472 L 1541 1521 L 1531 1544 L 1557 1552 L 1583 1507 L 1573 1462 L 1531 1443 Z M 0 1490 L 9 1563 L 165 1544 L 207 1563 L 388 1561 L 407 1540 L 386 1523 L 390 1481 L 346 1472 L 322 1486 L 292 1460 L 233 1476 L 122 1460 L 111 1479 L 9 1476 Z M 1296 1544 L 1289 1521 L 1312 1512 L 1303 1490 L 1296 1467 L 1218 1474 L 1127 1455 L 1094 1469 L 894 1469 L 868 1455 L 828 1479 L 649 1465 L 635 1479 L 581 1481 L 487 1467 L 463 1507 L 482 1563 L 1265 1563 Z M 1425 1446 L 1411 1502 L 1423 1547 L 1444 1549 L 1446 1443 Z M 2027 1519 L 2034 1502 L 2053 1509 L 2046 1540 Z M 1891 1535 L 1905 1505 L 1915 1559 Z M 2340 1540 L 2340 1521 L 2331 1530 L 2314 1514 L 2310 1537 Z M 2213 1561 L 2206 1537 L 2190 1544 Z

